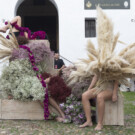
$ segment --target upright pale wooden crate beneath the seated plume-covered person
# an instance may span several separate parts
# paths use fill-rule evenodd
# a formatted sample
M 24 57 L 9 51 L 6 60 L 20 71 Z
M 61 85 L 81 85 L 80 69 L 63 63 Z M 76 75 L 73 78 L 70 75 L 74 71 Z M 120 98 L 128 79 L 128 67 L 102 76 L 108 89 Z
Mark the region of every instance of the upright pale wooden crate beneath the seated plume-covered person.
M 124 125 L 123 104 L 123 97 L 120 94 L 118 95 L 117 102 L 105 101 L 104 125 Z

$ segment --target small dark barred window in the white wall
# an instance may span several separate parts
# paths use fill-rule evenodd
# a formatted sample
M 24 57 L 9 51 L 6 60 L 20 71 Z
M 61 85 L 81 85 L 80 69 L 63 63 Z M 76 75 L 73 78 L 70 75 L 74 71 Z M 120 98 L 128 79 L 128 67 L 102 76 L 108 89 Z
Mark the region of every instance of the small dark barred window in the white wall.
M 85 37 L 96 37 L 96 19 L 85 19 Z

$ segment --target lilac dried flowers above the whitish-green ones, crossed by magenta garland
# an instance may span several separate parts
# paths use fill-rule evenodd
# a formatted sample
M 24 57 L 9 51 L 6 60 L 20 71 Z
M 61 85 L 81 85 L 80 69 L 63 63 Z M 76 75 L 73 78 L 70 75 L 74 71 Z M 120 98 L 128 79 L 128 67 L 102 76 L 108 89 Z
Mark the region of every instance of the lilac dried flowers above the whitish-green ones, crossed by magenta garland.
M 49 71 L 50 67 L 52 66 L 54 55 L 50 48 L 47 47 L 44 42 L 40 42 L 40 44 L 37 42 L 32 42 L 26 44 L 25 46 L 29 47 L 32 51 L 35 58 L 35 63 L 40 65 L 42 72 Z M 24 59 L 28 57 L 28 52 L 23 48 L 13 49 L 11 60 Z

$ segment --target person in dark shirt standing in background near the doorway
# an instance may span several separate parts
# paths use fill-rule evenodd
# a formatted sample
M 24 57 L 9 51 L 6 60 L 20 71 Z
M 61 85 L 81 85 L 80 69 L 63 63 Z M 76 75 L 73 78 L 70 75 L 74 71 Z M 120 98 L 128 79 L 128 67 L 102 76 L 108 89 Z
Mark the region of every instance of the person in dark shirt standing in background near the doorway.
M 62 59 L 59 58 L 59 54 L 55 53 L 54 55 L 54 68 L 59 69 L 61 71 L 63 68 L 65 68 L 65 64 Z

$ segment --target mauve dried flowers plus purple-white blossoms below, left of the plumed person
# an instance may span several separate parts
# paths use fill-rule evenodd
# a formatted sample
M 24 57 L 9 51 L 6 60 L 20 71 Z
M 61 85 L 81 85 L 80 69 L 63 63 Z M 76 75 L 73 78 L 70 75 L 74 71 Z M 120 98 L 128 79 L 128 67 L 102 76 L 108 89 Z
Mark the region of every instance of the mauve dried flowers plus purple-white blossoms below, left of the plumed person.
M 84 93 L 91 82 L 91 78 L 85 78 L 84 80 L 78 80 L 75 83 L 69 83 L 69 76 L 72 72 L 76 71 L 74 66 L 69 66 L 62 70 L 62 78 L 67 85 L 72 88 L 71 95 L 66 99 L 66 103 L 60 104 L 60 108 L 66 114 L 64 123 L 82 124 L 85 122 L 85 114 L 82 108 L 81 96 Z

